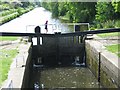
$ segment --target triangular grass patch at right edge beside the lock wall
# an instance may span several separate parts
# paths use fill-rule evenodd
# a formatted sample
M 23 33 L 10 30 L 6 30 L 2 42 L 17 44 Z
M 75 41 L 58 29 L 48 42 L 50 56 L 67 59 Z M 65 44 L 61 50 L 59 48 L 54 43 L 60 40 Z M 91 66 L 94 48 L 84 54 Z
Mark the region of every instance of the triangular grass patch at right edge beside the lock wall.
M 120 44 L 115 44 L 115 45 L 110 45 L 110 46 L 106 46 L 106 49 L 112 53 L 115 53 L 116 55 L 118 55 L 118 57 L 120 57 Z

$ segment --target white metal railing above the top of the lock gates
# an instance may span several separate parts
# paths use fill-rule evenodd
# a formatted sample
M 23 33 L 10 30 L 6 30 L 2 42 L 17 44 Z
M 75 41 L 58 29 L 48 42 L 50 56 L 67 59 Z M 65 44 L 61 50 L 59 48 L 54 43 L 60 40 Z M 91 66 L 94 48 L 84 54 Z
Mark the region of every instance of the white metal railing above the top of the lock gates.
M 27 25 L 26 33 L 33 33 L 34 28 L 39 26 L 42 31 L 45 31 L 45 24 L 40 25 Z M 61 24 L 47 24 L 49 33 L 54 32 L 74 32 L 74 31 L 84 31 L 89 30 L 89 23 L 61 23 Z M 69 29 L 69 30 L 68 30 Z M 43 33 L 43 32 L 42 32 Z

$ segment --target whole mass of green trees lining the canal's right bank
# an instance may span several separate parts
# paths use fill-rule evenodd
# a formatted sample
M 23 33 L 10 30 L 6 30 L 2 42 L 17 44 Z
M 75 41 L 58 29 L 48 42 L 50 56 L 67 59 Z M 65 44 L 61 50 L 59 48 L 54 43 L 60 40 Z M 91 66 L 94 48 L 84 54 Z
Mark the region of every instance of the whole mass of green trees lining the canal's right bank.
M 92 29 L 120 27 L 120 1 L 43 2 L 42 6 L 50 10 L 52 16 L 69 19 L 69 22 L 92 23 Z

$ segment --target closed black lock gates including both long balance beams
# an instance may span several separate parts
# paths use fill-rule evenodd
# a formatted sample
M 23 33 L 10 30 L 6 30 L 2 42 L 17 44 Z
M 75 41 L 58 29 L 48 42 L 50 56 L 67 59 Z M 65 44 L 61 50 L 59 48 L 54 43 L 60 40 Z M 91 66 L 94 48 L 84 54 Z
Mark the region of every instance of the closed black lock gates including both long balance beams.
M 39 31 L 36 31 L 39 32 Z M 42 38 L 42 44 L 32 45 L 34 66 L 86 65 L 85 37 L 87 34 L 120 32 L 120 28 L 93 30 L 63 34 L 10 33 L 0 32 L 0 36 L 29 36 Z

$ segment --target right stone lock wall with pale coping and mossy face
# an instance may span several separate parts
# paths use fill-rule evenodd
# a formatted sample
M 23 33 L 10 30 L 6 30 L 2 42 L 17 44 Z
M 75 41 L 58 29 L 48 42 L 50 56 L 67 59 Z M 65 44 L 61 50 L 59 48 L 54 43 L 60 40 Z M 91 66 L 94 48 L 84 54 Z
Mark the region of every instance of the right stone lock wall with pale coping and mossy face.
M 99 60 L 100 64 L 100 83 L 104 88 L 120 87 L 118 67 L 118 57 L 107 50 L 98 41 L 86 41 L 86 63 L 93 74 L 98 78 Z

